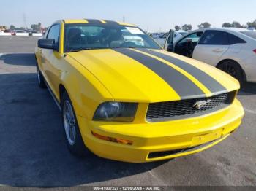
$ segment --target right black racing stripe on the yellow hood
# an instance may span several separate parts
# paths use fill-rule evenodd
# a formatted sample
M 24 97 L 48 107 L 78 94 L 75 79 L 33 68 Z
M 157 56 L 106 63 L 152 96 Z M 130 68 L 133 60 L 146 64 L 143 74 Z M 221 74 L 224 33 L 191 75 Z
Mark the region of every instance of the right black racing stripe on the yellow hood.
M 227 89 L 223 85 L 221 85 L 219 82 L 217 82 L 216 79 L 206 74 L 206 72 L 200 69 L 197 69 L 197 67 L 192 66 L 191 64 L 185 61 L 181 61 L 178 58 L 172 57 L 171 55 L 165 55 L 163 53 L 156 52 L 154 50 L 148 50 L 148 49 L 142 49 L 142 48 L 138 50 L 157 56 L 158 58 L 162 58 L 165 61 L 175 64 L 176 66 L 180 67 L 184 71 L 187 71 L 189 74 L 195 77 L 199 82 L 201 82 L 204 86 L 206 86 L 208 90 L 210 90 L 211 93 L 213 93 L 213 95 L 227 92 Z

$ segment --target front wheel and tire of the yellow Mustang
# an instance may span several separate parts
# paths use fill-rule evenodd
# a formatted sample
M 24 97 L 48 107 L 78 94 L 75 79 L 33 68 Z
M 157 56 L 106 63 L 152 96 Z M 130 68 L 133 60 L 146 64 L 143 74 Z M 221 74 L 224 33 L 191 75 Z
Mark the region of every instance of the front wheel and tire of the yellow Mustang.
M 83 143 L 74 108 L 72 106 L 69 95 L 67 95 L 67 92 L 64 92 L 62 94 L 61 110 L 64 135 L 69 151 L 73 155 L 77 155 L 79 157 L 84 157 L 88 155 L 89 149 L 87 149 L 85 144 Z

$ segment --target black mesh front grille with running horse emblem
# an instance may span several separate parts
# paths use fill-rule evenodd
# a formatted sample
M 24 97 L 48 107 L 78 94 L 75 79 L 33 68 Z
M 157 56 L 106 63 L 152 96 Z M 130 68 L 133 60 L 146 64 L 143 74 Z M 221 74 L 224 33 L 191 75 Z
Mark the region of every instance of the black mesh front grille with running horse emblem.
M 146 120 L 148 122 L 161 122 L 214 112 L 231 104 L 235 94 L 236 92 L 230 92 L 214 95 L 209 98 L 152 103 L 148 106 Z

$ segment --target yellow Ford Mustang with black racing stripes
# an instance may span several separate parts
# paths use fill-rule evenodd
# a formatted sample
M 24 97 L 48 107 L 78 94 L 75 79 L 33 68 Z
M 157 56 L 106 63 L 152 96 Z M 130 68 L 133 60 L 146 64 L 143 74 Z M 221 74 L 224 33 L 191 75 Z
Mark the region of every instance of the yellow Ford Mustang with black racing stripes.
M 60 20 L 36 47 L 40 87 L 62 111 L 71 152 L 142 163 L 200 152 L 241 124 L 239 83 L 165 52 L 140 28 Z

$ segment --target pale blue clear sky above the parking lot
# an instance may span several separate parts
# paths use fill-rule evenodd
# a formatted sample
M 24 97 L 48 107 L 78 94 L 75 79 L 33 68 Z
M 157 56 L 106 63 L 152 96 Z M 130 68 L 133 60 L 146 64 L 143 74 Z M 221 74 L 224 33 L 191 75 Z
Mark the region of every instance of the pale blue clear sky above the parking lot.
M 0 26 L 50 26 L 56 20 L 96 18 L 133 23 L 145 31 L 203 22 L 241 24 L 256 19 L 255 0 L 0 0 Z M 24 19 L 25 18 L 25 19 Z M 24 22 L 24 20 L 26 22 Z

